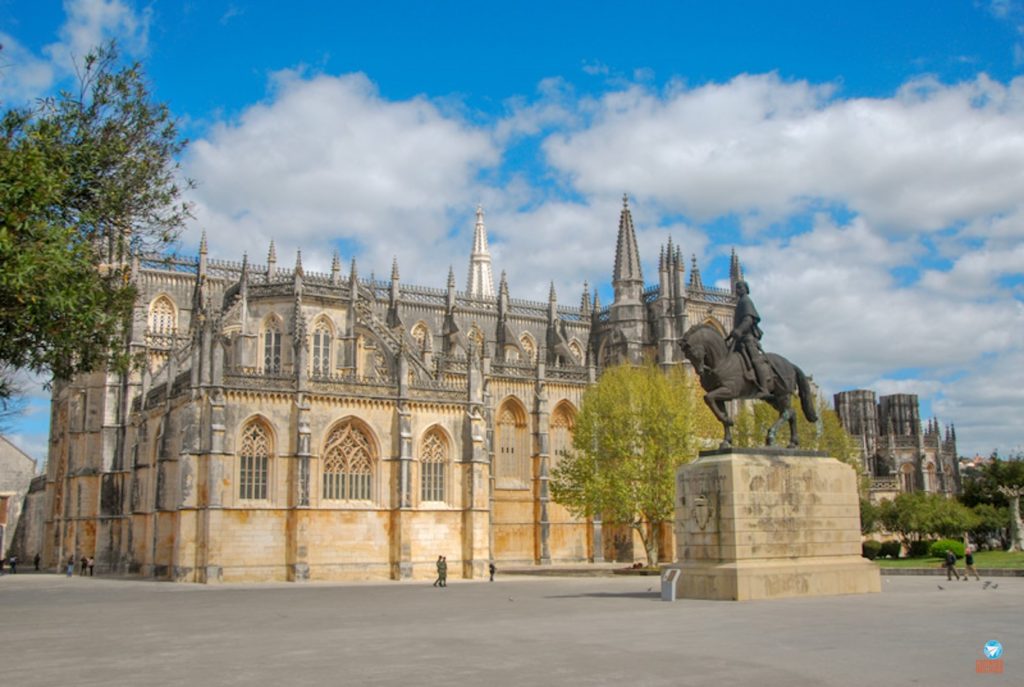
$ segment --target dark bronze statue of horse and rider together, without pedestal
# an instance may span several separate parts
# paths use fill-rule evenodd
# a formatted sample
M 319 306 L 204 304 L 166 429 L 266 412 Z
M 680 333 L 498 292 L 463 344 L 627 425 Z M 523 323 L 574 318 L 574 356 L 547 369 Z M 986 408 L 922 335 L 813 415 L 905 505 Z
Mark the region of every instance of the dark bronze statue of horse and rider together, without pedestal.
M 737 398 L 764 400 L 778 411 L 778 420 L 768 429 L 765 443 L 772 445 L 785 421 L 790 422 L 790 447 L 800 443 L 797 436 L 797 413 L 790 401 L 795 391 L 800 393 L 800 405 L 808 422 L 817 422 L 811 387 L 804 372 L 775 353 L 761 349 L 761 316 L 750 296 L 745 282 L 736 283 L 736 311 L 732 332 L 728 337 L 711 325 L 696 325 L 683 335 L 680 345 L 683 355 L 693 364 L 705 402 L 722 423 L 725 436 L 721 448 L 732 446 L 733 420 L 727 401 Z

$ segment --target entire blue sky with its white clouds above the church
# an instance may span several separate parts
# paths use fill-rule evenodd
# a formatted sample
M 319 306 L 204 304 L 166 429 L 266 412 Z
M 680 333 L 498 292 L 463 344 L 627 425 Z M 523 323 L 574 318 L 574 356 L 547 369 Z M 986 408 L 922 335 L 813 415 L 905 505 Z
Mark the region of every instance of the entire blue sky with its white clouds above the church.
M 481 203 L 513 297 L 607 301 L 629 192 L 648 283 L 669 235 L 706 283 L 735 248 L 825 393 L 1024 445 L 1020 2 L 0 0 L 0 101 L 106 38 L 193 141 L 183 252 L 440 287 Z M 47 415 L 8 435 L 42 456 Z

